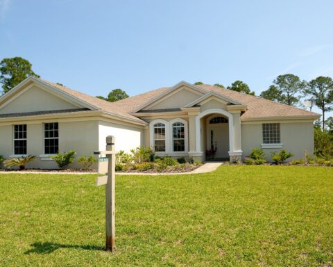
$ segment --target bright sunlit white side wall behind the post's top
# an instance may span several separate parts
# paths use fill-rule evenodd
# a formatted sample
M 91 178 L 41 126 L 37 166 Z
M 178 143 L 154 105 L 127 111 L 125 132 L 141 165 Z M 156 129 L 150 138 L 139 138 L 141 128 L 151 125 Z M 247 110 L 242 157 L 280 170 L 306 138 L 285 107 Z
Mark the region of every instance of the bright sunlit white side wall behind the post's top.
M 99 149 L 105 150 L 106 136 L 114 136 L 116 138 L 116 151 L 124 150 L 130 152 L 140 145 L 144 145 L 144 129 L 115 124 L 113 122 L 99 122 Z

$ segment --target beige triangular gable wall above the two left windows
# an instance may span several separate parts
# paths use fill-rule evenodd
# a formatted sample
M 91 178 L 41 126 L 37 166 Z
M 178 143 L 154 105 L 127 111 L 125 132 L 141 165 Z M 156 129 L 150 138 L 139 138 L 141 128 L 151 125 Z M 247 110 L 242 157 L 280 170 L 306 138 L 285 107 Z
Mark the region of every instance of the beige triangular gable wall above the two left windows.
M 33 86 L 23 92 L 22 95 L 19 95 L 16 99 L 12 100 L 12 102 L 3 106 L 3 108 L 0 108 L 0 114 L 31 111 L 56 111 L 74 108 L 78 108 L 78 106 L 74 106 L 37 86 Z

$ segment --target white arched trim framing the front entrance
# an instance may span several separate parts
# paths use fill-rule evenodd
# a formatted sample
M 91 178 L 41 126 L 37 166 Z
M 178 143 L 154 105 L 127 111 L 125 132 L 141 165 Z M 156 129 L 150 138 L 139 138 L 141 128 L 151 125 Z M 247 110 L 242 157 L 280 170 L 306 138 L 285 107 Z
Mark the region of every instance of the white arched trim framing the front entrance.
M 234 152 L 234 118 L 231 113 L 225 111 L 221 108 L 212 108 L 208 109 L 207 111 L 201 112 L 199 115 L 196 116 L 196 152 L 201 151 L 201 144 L 200 144 L 200 119 L 205 117 L 205 115 L 210 115 L 213 113 L 225 115 L 228 118 L 228 127 L 229 127 L 229 153 Z

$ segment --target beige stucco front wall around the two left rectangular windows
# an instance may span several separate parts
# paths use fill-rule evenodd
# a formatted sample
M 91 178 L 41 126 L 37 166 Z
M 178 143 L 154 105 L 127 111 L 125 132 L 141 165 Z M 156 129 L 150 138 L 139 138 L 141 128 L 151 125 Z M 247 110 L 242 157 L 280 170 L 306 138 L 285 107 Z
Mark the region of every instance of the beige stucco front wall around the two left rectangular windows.
M 51 121 L 45 121 L 51 122 Z M 53 120 L 52 122 L 57 122 Z M 92 155 L 99 149 L 98 121 L 59 121 L 59 150 L 68 152 L 76 150 L 76 159 L 79 156 Z M 27 154 L 37 156 L 37 160 L 29 163 L 27 168 L 58 168 L 56 163 L 44 155 L 44 123 L 43 122 L 15 122 L 15 124 L 27 124 Z M 13 156 L 14 141 L 12 125 L 0 126 L 0 154 L 5 158 Z M 71 167 L 80 168 L 77 161 Z M 96 166 L 95 166 L 96 167 Z

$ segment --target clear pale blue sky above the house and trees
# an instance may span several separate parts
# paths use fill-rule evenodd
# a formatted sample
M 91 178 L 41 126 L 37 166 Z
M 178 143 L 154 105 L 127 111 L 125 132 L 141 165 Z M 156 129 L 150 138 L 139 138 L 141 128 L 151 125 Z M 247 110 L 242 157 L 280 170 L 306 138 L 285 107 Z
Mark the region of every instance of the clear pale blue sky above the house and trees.
M 332 0 L 0 0 L 0 59 L 90 95 L 333 76 Z

